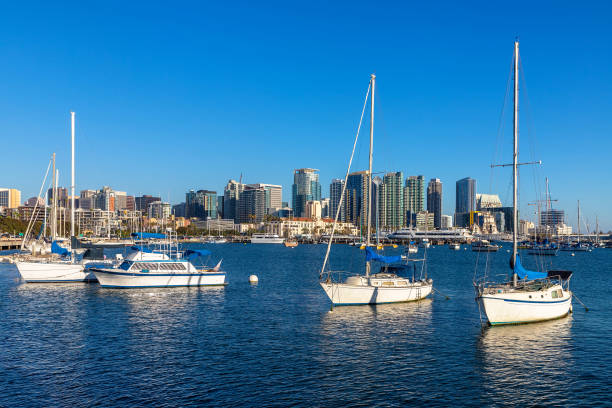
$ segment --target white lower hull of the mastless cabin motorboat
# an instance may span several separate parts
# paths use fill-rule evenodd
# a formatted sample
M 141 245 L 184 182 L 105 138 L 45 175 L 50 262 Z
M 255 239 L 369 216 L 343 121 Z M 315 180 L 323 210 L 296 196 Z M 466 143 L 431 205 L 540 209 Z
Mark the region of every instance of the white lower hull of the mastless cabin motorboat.
M 225 285 L 224 272 L 206 273 L 150 273 L 93 269 L 102 287 L 150 288 L 175 286 L 220 286 Z

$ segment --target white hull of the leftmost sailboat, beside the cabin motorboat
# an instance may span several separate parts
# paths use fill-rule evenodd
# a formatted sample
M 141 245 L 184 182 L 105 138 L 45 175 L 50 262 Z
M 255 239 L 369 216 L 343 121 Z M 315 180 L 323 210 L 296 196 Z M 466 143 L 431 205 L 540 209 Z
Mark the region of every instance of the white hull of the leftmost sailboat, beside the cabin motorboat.
M 96 277 L 83 265 L 72 263 L 16 262 L 25 282 L 95 282 Z

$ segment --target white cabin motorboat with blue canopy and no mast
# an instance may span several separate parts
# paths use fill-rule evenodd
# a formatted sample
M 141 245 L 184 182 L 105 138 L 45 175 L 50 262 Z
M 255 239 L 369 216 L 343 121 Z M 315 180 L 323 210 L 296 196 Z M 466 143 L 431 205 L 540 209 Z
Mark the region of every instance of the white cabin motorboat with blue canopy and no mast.
M 92 268 L 106 288 L 150 288 L 176 286 L 223 286 L 225 272 L 221 262 L 214 268 L 197 268 L 192 257 L 207 256 L 210 251 L 151 251 L 132 247 L 132 252 L 116 268 Z

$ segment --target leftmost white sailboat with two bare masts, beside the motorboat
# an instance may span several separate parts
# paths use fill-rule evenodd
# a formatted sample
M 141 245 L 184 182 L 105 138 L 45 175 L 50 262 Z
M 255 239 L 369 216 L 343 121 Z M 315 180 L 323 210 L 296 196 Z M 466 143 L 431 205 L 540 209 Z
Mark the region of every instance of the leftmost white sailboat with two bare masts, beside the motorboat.
M 70 112 L 71 146 L 72 146 L 72 175 L 71 175 L 71 205 L 70 205 L 70 234 L 74 237 L 74 124 L 75 113 Z M 52 201 L 52 245 L 51 257 L 30 257 L 15 262 L 17 270 L 24 282 L 89 282 L 96 281 L 91 271 L 86 271 L 83 264 L 75 261 L 74 251 L 68 251 L 57 242 L 57 175 L 55 172 L 55 154 L 53 154 L 53 201 Z M 26 236 L 24 235 L 24 240 Z

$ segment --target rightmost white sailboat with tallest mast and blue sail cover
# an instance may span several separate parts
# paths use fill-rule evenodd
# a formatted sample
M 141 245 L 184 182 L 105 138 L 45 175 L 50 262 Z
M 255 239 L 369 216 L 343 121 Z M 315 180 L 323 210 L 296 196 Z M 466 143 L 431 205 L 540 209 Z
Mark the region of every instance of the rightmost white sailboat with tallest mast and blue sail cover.
M 519 43 L 514 43 L 514 154 L 513 178 L 513 230 L 512 256 L 509 282 L 474 282 L 476 300 L 492 326 L 530 323 L 557 319 L 572 310 L 572 292 L 569 290 L 571 271 L 530 271 L 523 267 L 518 246 L 518 64 Z M 536 162 L 537 163 L 537 162 Z M 521 163 L 533 164 L 533 163 Z M 509 165 L 497 165 L 509 166 Z

